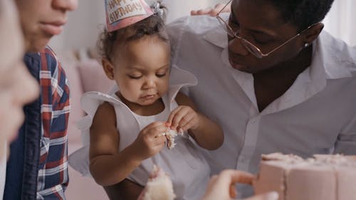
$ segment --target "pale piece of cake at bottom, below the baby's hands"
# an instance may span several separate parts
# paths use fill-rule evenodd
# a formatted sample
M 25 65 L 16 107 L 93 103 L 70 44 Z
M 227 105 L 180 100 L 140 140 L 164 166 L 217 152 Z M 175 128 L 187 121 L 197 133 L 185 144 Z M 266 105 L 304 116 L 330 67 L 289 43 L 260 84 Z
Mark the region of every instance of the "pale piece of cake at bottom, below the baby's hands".
M 172 181 L 155 165 L 138 200 L 173 200 L 175 197 Z

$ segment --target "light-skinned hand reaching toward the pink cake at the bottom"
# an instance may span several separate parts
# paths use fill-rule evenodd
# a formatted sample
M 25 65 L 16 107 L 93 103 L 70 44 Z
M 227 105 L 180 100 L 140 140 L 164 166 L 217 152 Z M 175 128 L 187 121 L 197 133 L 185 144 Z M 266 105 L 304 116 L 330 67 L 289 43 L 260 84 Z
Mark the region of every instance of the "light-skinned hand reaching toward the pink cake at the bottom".
M 211 177 L 206 188 L 203 199 L 201 200 L 231 200 L 236 198 L 237 192 L 235 189 L 236 183 L 252 184 L 254 176 L 247 172 L 241 172 L 232 169 L 226 169 L 219 175 Z M 278 194 L 270 192 L 258 196 L 252 196 L 245 200 L 277 200 Z

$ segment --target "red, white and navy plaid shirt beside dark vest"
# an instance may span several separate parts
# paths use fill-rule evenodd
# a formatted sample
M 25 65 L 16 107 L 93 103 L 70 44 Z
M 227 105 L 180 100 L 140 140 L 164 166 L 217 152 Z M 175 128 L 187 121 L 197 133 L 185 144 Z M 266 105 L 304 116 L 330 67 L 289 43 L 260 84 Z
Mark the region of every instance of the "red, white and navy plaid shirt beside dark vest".
M 37 199 L 66 199 L 70 110 L 68 79 L 50 48 L 40 54 L 42 137 Z

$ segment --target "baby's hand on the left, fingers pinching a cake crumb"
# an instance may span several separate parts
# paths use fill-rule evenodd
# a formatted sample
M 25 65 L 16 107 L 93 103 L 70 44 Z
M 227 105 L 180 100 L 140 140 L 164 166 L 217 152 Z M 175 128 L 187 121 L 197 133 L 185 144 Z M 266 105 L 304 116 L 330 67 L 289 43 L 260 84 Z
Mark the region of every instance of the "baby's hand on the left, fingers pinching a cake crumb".
M 153 122 L 141 130 L 132 145 L 142 160 L 154 156 L 164 147 L 167 140 L 162 133 L 167 132 L 167 128 L 164 122 Z

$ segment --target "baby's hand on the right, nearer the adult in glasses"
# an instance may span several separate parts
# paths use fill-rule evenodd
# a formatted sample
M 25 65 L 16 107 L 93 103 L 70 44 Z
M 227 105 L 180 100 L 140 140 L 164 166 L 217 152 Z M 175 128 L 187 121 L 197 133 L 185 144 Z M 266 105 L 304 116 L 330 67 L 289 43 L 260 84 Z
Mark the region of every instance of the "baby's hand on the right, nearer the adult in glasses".
M 181 105 L 174 109 L 168 117 L 167 123 L 172 130 L 179 132 L 199 127 L 199 116 L 192 107 Z

